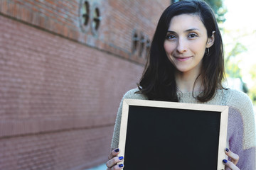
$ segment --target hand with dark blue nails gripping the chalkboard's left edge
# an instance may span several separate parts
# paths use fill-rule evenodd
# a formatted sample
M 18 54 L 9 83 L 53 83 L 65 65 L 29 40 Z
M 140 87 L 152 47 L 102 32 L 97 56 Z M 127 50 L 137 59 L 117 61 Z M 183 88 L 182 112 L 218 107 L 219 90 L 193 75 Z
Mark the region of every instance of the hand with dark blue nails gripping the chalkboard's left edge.
M 122 162 L 124 157 L 118 157 L 117 155 L 119 154 L 119 149 L 113 149 L 109 156 L 108 159 L 109 161 L 106 163 L 107 170 L 116 170 L 116 169 L 123 169 L 124 164 L 117 164 L 118 162 Z

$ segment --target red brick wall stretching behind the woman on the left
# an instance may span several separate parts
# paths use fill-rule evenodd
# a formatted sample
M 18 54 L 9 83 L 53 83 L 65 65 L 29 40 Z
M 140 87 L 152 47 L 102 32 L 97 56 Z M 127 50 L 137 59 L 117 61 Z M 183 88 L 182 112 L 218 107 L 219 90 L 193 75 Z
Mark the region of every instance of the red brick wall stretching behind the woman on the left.
M 0 1 L 0 169 L 85 169 L 105 162 L 117 108 L 139 81 L 134 32 L 152 38 L 170 1 Z M 154 7 L 154 8 L 153 8 Z

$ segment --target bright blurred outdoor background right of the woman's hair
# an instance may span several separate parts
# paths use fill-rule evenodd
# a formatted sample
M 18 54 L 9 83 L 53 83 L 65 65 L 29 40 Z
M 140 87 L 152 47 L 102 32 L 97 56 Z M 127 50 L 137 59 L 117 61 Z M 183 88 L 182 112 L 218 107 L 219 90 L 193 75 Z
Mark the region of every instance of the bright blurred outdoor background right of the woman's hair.
M 230 86 L 247 93 L 256 101 L 256 16 L 253 6 L 256 1 L 223 0 L 225 22 L 223 42 L 225 45 L 225 67 Z

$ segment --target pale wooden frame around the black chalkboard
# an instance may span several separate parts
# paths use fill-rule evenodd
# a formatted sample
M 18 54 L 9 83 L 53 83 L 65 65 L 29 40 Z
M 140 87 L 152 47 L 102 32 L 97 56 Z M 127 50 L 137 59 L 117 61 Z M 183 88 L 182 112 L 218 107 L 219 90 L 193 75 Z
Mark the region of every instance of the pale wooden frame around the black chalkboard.
M 206 105 L 206 104 L 195 104 L 195 103 L 178 103 L 178 102 L 166 102 L 166 101 L 148 101 L 148 100 L 137 100 L 137 99 L 127 99 L 124 98 L 122 106 L 122 119 L 119 133 L 119 149 L 120 156 L 124 156 L 125 160 L 125 147 L 127 140 L 127 125 L 129 118 L 129 107 L 130 106 L 142 106 L 142 107 L 153 107 L 153 108 L 171 108 L 171 109 L 181 109 L 189 111 L 210 111 L 215 113 L 220 113 L 220 130 L 219 130 L 219 140 L 218 140 L 218 162 L 217 170 L 225 169 L 222 163 L 223 159 L 227 159 L 225 155 L 225 147 L 227 146 L 227 129 L 228 129 L 228 106 L 216 106 L 216 105 Z M 152 153 L 154 154 L 154 153 Z M 120 162 L 119 164 L 124 164 L 125 162 Z M 198 167 L 200 163 L 198 162 Z M 204 167 L 207 169 L 207 167 Z M 199 168 L 200 169 L 200 168 Z M 125 164 L 124 164 L 125 170 Z M 128 169 L 129 170 L 129 169 Z

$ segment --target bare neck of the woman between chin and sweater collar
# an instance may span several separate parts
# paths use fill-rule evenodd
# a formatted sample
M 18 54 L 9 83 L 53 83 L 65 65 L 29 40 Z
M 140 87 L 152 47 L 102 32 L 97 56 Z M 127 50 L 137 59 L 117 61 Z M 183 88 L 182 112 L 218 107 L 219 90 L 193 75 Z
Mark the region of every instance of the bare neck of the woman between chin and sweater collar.
M 176 72 L 175 80 L 177 85 L 177 90 L 183 93 L 192 92 L 192 91 L 203 91 L 203 86 L 201 84 L 201 77 L 198 73 L 194 72 Z M 196 81 L 196 84 L 195 84 Z M 195 84 L 195 86 L 194 86 Z M 194 88 L 193 88 L 194 87 Z

